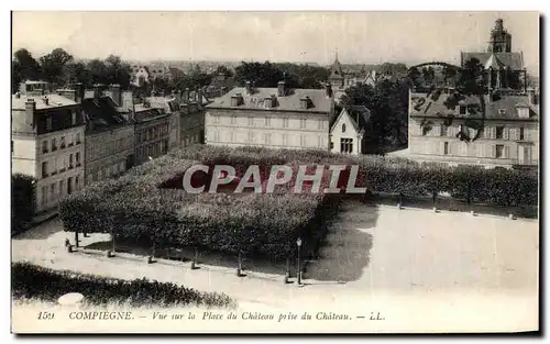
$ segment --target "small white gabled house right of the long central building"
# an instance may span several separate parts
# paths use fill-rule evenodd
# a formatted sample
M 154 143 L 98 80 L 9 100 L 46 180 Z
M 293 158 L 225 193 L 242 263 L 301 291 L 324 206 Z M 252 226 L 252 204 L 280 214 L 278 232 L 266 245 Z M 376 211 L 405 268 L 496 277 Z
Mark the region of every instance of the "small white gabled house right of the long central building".
M 364 154 L 371 134 L 371 111 L 363 106 L 342 109 L 330 129 L 330 152 Z

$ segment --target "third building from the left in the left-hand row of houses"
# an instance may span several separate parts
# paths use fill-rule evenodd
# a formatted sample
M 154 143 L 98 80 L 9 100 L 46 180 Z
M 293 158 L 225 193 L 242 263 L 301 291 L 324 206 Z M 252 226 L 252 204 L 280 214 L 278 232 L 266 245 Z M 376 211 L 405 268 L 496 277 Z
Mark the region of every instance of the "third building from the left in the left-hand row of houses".
M 148 102 L 133 106 L 135 165 L 168 152 L 170 114 Z

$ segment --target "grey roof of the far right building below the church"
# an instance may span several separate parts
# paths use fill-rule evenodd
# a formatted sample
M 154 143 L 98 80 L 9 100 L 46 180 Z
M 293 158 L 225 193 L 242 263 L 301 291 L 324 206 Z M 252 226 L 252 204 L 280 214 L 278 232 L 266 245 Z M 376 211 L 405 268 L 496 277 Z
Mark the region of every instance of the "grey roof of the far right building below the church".
M 454 118 L 466 118 L 469 116 L 468 111 L 466 114 L 460 114 L 460 106 L 481 106 L 481 99 L 479 97 L 466 97 L 461 100 L 455 109 L 448 109 L 444 104 L 446 99 L 449 95 L 442 93 L 437 100 L 433 98 L 427 98 L 426 93 L 411 93 L 411 98 L 425 98 L 427 99 L 425 103 L 415 109 L 414 100 L 411 100 L 410 106 L 410 115 L 416 116 L 438 116 L 439 114 L 448 115 L 452 114 Z M 528 96 L 498 96 L 495 98 L 491 98 L 488 95 L 484 96 L 485 102 L 485 118 L 494 119 L 494 120 L 518 120 L 518 112 L 516 109 L 517 104 L 524 104 L 529 107 L 530 109 L 530 120 L 538 119 L 538 110 L 536 107 L 531 106 L 529 102 Z M 504 110 L 499 111 L 499 110 Z M 525 120 L 525 119 L 521 119 Z

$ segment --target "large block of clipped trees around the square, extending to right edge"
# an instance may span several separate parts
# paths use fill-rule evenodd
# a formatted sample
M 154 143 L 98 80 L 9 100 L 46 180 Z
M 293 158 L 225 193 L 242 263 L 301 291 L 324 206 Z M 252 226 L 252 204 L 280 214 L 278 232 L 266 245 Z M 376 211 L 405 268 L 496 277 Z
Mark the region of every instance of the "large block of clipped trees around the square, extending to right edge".
M 286 164 L 296 171 L 302 162 L 359 165 L 356 186 L 372 192 L 409 197 L 448 192 L 470 202 L 538 203 L 537 175 L 527 171 L 449 168 L 404 158 L 324 151 L 196 145 L 133 168 L 119 179 L 96 182 L 70 195 L 62 201 L 59 215 L 66 231 L 114 233 L 117 238 L 150 242 L 158 247 L 195 246 L 279 259 L 292 254 L 296 238 L 302 237 L 304 248 L 315 253 L 316 243 L 322 238 L 321 224 L 338 208 L 338 195 L 294 195 L 290 189 L 296 175 L 273 195 L 189 195 L 180 187 L 185 170 L 197 164 L 230 165 L 239 177 L 250 165 L 260 165 L 265 178 L 273 165 Z M 329 181 L 330 176 L 326 175 L 321 189 Z

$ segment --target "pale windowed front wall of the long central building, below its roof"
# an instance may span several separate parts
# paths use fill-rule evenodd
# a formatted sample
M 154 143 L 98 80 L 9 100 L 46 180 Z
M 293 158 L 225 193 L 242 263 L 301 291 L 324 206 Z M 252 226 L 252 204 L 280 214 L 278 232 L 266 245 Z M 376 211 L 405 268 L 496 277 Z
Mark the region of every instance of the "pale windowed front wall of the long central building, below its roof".
M 205 135 L 215 145 L 327 149 L 329 114 L 208 109 Z

